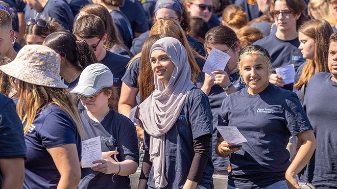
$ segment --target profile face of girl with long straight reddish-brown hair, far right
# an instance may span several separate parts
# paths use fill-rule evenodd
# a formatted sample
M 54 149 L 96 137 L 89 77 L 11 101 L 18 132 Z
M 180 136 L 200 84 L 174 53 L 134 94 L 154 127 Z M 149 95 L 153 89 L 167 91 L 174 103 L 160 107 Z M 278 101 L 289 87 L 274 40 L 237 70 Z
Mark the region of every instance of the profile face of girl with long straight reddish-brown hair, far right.
M 313 60 L 315 56 L 315 40 L 301 32 L 298 33 L 298 39 L 300 40 L 298 49 L 301 50 L 303 58 Z

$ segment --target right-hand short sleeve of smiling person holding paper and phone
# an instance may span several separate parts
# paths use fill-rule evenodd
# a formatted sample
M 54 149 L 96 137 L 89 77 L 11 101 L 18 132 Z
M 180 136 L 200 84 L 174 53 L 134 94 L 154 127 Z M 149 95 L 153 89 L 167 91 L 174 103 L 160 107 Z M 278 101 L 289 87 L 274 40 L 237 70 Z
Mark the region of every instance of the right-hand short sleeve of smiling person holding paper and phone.
M 292 136 L 313 129 L 295 93 L 292 93 L 290 97 L 286 99 L 284 111 L 286 126 Z

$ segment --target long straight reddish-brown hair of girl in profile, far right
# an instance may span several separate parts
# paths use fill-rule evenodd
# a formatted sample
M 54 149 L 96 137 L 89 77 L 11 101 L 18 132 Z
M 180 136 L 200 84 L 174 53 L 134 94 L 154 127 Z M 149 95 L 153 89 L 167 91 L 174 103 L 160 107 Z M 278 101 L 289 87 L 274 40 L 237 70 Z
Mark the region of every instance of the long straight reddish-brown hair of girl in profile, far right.
M 303 66 L 301 76 L 294 85 L 296 89 L 308 84 L 310 78 L 318 72 L 329 71 L 329 38 L 333 33 L 328 21 L 323 19 L 310 20 L 304 23 L 299 32 L 315 40 L 314 59 L 307 59 Z

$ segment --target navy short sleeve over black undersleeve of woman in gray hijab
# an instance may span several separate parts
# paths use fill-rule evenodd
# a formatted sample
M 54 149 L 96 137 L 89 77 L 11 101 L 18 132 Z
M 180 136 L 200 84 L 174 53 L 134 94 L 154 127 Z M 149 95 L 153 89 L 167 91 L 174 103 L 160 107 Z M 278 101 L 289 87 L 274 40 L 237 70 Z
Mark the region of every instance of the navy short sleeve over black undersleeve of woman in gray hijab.
M 196 96 L 189 103 L 188 117 L 193 139 L 197 139 L 205 134 L 212 134 L 212 112 L 207 96 L 203 93 Z

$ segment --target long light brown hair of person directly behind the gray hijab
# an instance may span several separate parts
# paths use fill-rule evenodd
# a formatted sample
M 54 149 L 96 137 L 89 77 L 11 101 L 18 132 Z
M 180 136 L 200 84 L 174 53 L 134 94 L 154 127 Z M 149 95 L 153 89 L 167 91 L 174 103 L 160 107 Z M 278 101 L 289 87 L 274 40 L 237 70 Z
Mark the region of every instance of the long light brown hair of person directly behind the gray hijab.
M 186 35 L 181 26 L 171 19 L 160 19 L 156 21 L 150 30 L 150 36 L 154 34 L 164 34 L 169 37 L 176 38 L 182 43 L 182 45 L 186 48 L 188 63 L 191 67 L 191 80 L 192 82 L 196 83 L 198 74 L 200 72 L 196 58 L 203 59 L 203 57 L 201 57 L 195 50 L 190 48 Z

